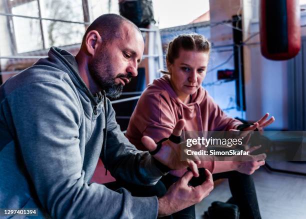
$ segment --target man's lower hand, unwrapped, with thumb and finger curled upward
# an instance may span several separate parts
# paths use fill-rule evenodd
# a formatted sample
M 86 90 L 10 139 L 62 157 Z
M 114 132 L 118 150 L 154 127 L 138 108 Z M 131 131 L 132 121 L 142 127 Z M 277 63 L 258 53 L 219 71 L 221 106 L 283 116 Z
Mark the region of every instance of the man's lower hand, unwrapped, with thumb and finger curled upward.
M 164 196 L 158 198 L 158 217 L 170 215 L 192 204 L 200 202 L 213 189 L 211 173 L 205 169 L 206 180 L 195 187 L 188 185 L 192 173 L 187 171 L 172 184 Z

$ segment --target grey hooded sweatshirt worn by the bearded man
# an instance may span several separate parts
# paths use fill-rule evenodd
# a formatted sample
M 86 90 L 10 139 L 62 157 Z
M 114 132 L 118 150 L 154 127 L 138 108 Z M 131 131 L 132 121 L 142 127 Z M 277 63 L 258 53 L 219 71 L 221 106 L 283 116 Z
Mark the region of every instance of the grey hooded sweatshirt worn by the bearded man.
M 166 173 L 129 143 L 109 99 L 94 97 L 80 78 L 74 56 L 51 47 L 0 86 L 0 208 L 38 208 L 39 217 L 54 218 L 156 218 L 156 196 L 89 183 L 105 138 L 102 160 L 114 177 L 152 185 Z

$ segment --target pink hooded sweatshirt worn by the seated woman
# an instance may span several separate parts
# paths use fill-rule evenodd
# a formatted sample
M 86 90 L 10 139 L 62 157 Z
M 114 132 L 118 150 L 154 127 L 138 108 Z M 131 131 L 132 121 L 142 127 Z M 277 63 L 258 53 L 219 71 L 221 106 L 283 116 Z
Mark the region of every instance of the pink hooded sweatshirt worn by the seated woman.
M 181 118 L 186 121 L 184 131 L 229 130 L 241 124 L 228 117 L 202 87 L 191 95 L 190 103 L 183 103 L 172 89 L 168 76 L 164 75 L 143 91 L 125 135 L 138 149 L 147 150 L 141 143 L 143 135 L 157 142 L 168 137 Z M 214 161 L 202 161 L 199 167 L 213 172 L 214 164 Z M 181 176 L 185 171 L 170 173 Z

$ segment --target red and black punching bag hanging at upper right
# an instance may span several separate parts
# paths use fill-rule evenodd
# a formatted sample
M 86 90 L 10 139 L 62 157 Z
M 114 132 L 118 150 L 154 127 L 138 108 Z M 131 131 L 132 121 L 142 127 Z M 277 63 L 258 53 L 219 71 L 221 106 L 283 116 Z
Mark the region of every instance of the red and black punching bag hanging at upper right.
M 260 0 L 260 47 L 264 57 L 285 60 L 300 49 L 299 0 Z

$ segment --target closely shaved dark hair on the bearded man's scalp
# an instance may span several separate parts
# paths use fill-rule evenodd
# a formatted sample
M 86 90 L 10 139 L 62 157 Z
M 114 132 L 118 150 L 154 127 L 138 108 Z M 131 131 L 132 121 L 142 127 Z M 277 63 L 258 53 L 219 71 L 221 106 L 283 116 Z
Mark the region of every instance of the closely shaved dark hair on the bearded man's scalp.
M 82 44 L 85 41 L 86 35 L 91 30 L 96 30 L 100 34 L 102 41 L 104 41 L 104 44 L 111 42 L 113 38 L 120 38 L 120 27 L 123 23 L 131 24 L 141 34 L 139 28 L 130 20 L 118 14 L 107 13 L 97 17 L 88 26 L 83 36 Z

